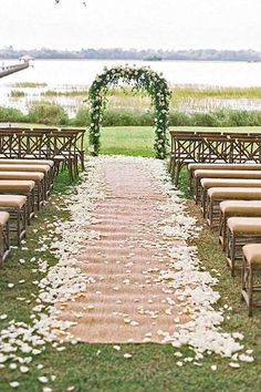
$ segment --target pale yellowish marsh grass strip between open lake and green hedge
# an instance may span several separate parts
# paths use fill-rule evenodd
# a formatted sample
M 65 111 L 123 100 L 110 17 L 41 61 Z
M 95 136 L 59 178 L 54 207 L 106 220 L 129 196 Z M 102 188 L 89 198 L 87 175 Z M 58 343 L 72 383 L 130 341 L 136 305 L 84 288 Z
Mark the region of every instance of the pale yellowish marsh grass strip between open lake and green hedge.
M 76 115 L 79 107 L 88 96 L 87 86 L 65 85 L 60 89 L 48 89 L 44 83 L 18 83 L 6 96 L 0 96 L 1 105 L 14 106 L 27 113 L 33 100 L 49 100 L 62 105 L 69 116 Z M 133 111 L 147 111 L 150 99 L 143 91 L 130 87 L 112 89 L 107 93 L 107 107 Z M 171 89 L 170 111 L 208 113 L 222 109 L 261 110 L 261 87 L 203 87 L 177 85 Z

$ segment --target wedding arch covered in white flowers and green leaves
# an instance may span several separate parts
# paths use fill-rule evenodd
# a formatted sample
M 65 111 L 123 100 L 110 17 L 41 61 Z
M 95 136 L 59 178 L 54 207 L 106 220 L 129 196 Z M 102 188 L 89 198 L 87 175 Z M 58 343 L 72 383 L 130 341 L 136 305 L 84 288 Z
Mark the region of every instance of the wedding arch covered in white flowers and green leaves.
M 133 90 L 146 91 L 155 107 L 155 144 L 156 157 L 166 157 L 168 111 L 170 92 L 167 81 L 161 74 L 153 71 L 149 66 L 114 66 L 105 68 L 104 72 L 96 76 L 88 91 L 91 104 L 90 125 L 90 153 L 98 155 L 100 128 L 103 113 L 106 109 L 106 93 L 112 85 L 126 82 L 132 84 Z

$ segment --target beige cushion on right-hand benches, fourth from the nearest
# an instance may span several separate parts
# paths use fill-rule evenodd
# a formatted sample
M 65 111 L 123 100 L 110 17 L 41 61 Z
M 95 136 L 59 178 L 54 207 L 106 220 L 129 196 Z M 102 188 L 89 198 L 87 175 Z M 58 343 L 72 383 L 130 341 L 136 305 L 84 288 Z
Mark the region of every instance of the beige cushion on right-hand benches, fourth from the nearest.
M 209 188 L 208 195 L 213 198 L 241 198 L 241 199 L 261 199 L 261 188 Z

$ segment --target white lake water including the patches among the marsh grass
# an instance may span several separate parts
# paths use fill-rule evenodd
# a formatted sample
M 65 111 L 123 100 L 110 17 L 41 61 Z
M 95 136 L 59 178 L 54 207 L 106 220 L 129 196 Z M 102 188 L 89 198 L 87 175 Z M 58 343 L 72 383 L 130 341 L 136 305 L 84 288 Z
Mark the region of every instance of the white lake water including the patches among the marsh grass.
M 4 61 L 4 64 L 11 63 L 14 63 L 14 61 Z M 155 71 L 163 72 L 170 86 L 261 86 L 261 63 L 258 62 L 36 60 L 33 68 L 0 79 L 0 105 L 14 106 L 27 112 L 30 102 L 41 100 L 41 93 L 45 90 L 87 89 L 95 75 L 102 72 L 105 65 L 113 66 L 126 63 L 129 65 L 135 63 L 137 66 L 149 65 Z M 46 83 L 46 86 L 38 89 L 15 87 L 15 83 L 24 82 Z M 27 96 L 13 99 L 10 96 L 12 90 L 23 90 Z M 58 97 L 54 101 L 64 105 L 67 112 L 73 115 L 82 100 Z M 198 104 L 201 105 L 200 102 Z M 202 103 L 202 107 L 209 105 L 211 109 L 230 106 L 257 110 L 261 109 L 261 100 L 236 100 L 234 102 L 230 100 L 221 102 L 217 100 L 215 102 L 212 100 L 209 103 Z

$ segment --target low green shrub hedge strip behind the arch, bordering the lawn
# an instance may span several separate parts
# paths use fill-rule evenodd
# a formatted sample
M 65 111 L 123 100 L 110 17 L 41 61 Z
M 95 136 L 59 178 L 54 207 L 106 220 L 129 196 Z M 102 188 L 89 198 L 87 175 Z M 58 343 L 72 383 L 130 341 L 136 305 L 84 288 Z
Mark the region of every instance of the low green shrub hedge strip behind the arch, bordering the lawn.
M 64 109 L 49 101 L 33 102 L 29 113 L 23 114 L 13 107 L 0 106 L 0 122 L 35 123 L 48 125 L 88 126 L 90 114 L 81 106 L 74 118 L 69 118 Z M 153 126 L 152 111 L 134 111 L 126 109 L 108 109 L 104 113 L 103 126 Z M 170 126 L 261 126 L 261 111 L 219 110 L 208 113 L 186 113 L 171 111 Z

